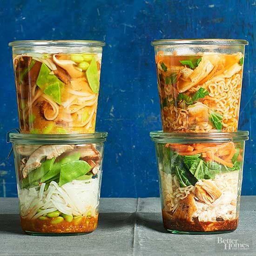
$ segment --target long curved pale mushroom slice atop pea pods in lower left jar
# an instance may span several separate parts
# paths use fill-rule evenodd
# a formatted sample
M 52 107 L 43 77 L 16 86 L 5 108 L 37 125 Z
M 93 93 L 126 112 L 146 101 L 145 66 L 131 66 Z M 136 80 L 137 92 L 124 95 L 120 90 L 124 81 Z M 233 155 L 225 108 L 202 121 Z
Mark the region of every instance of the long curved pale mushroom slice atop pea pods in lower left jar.
M 41 160 L 52 159 L 58 157 L 65 151 L 74 148 L 72 145 L 44 145 L 36 149 L 28 158 L 25 167 L 22 170 L 23 177 L 26 178 L 27 174 L 32 170 L 41 166 Z

